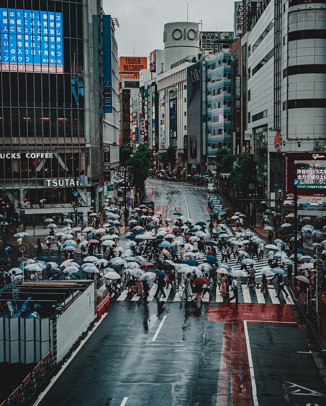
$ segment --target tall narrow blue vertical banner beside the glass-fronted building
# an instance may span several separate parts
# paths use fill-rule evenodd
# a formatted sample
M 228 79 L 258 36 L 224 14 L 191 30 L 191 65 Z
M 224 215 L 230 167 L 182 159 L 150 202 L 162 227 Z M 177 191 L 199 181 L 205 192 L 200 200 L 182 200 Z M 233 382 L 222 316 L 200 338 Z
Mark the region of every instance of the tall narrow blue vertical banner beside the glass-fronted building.
M 112 113 L 111 16 L 102 16 L 104 113 Z

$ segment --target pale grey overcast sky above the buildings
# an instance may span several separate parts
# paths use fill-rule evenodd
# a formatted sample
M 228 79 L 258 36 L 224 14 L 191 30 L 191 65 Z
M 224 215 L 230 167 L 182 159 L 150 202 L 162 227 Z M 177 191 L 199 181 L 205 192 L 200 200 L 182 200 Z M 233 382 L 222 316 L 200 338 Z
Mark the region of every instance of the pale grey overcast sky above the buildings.
M 116 17 L 119 56 L 149 56 L 163 49 L 167 22 L 203 20 L 203 31 L 233 31 L 232 0 L 103 0 L 105 14 Z M 133 45 L 134 44 L 134 45 Z

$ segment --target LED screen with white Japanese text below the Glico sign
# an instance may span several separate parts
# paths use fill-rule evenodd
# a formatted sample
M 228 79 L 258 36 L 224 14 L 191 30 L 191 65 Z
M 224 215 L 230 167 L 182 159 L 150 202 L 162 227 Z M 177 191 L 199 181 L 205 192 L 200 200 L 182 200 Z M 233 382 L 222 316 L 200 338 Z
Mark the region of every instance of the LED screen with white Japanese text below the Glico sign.
M 295 160 L 294 185 L 301 189 L 326 189 L 326 161 Z

